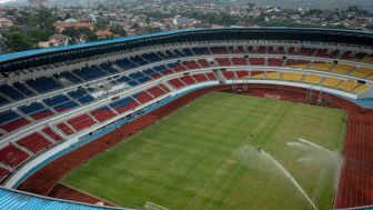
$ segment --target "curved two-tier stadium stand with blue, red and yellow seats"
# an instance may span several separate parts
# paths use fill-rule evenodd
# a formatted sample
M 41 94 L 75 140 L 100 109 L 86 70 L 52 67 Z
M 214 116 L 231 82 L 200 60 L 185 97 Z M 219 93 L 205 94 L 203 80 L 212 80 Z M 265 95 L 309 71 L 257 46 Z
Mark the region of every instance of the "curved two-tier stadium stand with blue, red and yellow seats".
M 342 38 L 339 38 L 342 46 L 332 44 L 335 50 L 324 49 L 325 46 L 321 43 L 323 36 L 326 34 L 324 31 L 317 32 L 321 33 L 319 38 L 321 40 L 315 40 L 313 44 L 309 44 L 310 41 L 298 44 L 298 42 L 283 40 L 283 42 L 275 42 L 275 46 L 271 46 L 271 42 L 268 44 L 240 42 L 236 46 L 230 42 L 225 44 L 224 41 L 219 43 L 211 41 L 208 44 L 201 41 L 199 42 L 201 46 L 186 48 L 184 44 L 179 44 L 184 38 L 178 40 L 169 38 L 170 43 L 174 46 L 170 44 L 165 48 L 162 44 L 169 42 L 157 42 L 157 39 L 149 43 L 144 41 L 143 46 L 138 43 L 120 46 L 119 41 L 114 42 L 118 44 L 115 49 L 110 49 L 112 50 L 110 51 L 111 41 L 108 41 L 108 48 L 104 50 L 101 49 L 94 53 L 92 51 L 92 57 L 107 58 L 104 61 L 100 60 L 102 63 L 99 59 L 94 62 L 89 60 L 88 54 L 91 51 L 79 54 L 80 57 L 77 56 L 77 59 L 81 60 L 73 62 L 63 60 L 65 52 L 70 53 L 74 50 L 62 50 L 64 53 L 61 52 L 58 60 L 51 58 L 46 62 L 49 64 L 59 62 L 61 66 L 81 63 L 72 66 L 73 68 L 52 69 L 50 73 L 46 71 L 46 73 L 32 77 L 28 74 L 17 81 L 2 81 L 0 86 L 0 108 L 2 108 L 0 111 L 0 162 L 3 164 L 0 166 L 0 179 L 7 181 L 9 176 L 18 172 L 18 168 L 21 168 L 24 162 L 43 156 L 43 151 L 48 151 L 57 143 L 68 144 L 72 137 L 83 138 L 81 133 L 84 131 L 94 132 L 92 129 L 104 128 L 114 120 L 123 120 L 133 113 L 134 108 L 142 104 L 151 106 L 150 101 L 162 102 L 161 100 L 165 98 L 163 96 L 179 94 L 186 90 L 183 89 L 185 87 L 191 87 L 189 89 L 192 90 L 204 86 L 225 84 L 226 80 L 242 78 L 269 83 L 291 81 L 286 83 L 294 86 L 298 82 L 327 87 L 342 91 L 342 93 L 349 93 L 349 97 L 354 96 L 354 100 L 357 100 L 364 92 L 371 91 L 370 80 L 373 81 L 373 67 L 366 63 L 373 63 L 372 56 L 366 52 L 336 49 L 346 48 L 349 44 L 356 47 L 355 43 L 344 43 Z M 268 31 L 263 34 L 268 34 Z M 291 34 L 293 39 L 294 31 Z M 232 38 L 241 39 L 241 34 L 229 36 L 229 38 L 216 37 L 230 41 L 240 41 L 231 40 Z M 333 34 L 333 40 L 337 39 L 336 37 Z M 185 40 L 192 42 L 195 41 L 194 39 L 200 41 L 198 39 L 210 38 L 200 33 L 200 37 Z M 329 41 L 330 37 L 325 40 Z M 362 42 L 363 40 L 355 39 L 354 41 Z M 152 47 L 155 43 L 161 43 L 154 48 L 157 51 L 139 50 L 140 47 L 144 48 L 147 44 Z M 371 44 L 371 42 L 364 44 L 367 43 Z M 90 43 L 87 44 L 90 46 Z M 296 44 L 298 47 L 294 47 Z M 319 48 L 314 48 L 317 44 Z M 362 51 L 366 51 L 364 44 L 360 46 Z M 128 52 L 105 57 L 105 52 L 115 52 L 119 48 Z M 77 53 L 81 52 L 77 51 Z M 52 53 L 50 56 L 52 57 Z M 38 62 L 29 60 L 29 57 L 36 57 Z M 38 60 L 40 58 L 40 54 L 36 53 L 28 57 L 21 56 L 19 59 L 24 62 L 7 59 L 0 62 L 4 62 L 3 66 L 7 67 L 4 71 L 10 71 L 17 66 L 18 69 L 16 68 L 14 71 L 27 72 L 30 69 L 31 72 L 34 66 L 39 67 L 39 62 L 43 63 Z M 7 66 L 8 62 L 10 66 Z M 31 64 L 27 66 L 28 62 Z M 313 71 L 316 74 L 312 74 Z M 18 133 L 23 131 L 22 129 L 26 132 Z M 17 134 L 22 134 L 20 137 L 23 138 L 13 138 Z

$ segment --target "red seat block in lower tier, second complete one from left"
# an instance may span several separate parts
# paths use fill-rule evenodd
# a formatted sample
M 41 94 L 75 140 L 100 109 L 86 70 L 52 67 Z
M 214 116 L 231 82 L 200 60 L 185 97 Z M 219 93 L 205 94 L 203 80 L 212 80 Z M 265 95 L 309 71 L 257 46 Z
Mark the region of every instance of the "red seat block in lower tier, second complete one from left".
M 34 132 L 18 140 L 17 143 L 22 146 L 23 148 L 27 148 L 33 153 L 38 153 L 52 144 L 52 142 L 50 142 L 48 139 L 46 139 L 38 132 Z

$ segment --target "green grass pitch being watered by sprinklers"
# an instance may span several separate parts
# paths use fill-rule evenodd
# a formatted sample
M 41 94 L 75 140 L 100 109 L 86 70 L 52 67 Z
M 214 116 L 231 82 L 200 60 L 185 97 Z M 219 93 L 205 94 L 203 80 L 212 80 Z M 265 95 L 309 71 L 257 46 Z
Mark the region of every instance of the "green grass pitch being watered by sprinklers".
M 62 181 L 113 203 L 172 210 L 312 209 L 263 149 L 319 209 L 331 209 L 336 163 L 327 152 L 286 143 L 343 144 L 345 112 L 212 92 L 72 171 Z M 296 144 L 296 143 L 295 143 Z

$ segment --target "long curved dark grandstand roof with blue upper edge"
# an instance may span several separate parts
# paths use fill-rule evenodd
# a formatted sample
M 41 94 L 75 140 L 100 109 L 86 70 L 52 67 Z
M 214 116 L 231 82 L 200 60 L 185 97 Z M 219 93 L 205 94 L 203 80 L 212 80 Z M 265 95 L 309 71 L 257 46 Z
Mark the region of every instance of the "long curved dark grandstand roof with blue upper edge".
M 11 71 L 36 66 L 87 58 L 123 49 L 153 44 L 205 41 L 205 40 L 299 40 L 373 46 L 373 33 L 352 30 L 303 28 L 225 28 L 167 31 L 118 38 L 105 41 L 38 49 L 0 56 L 0 71 Z

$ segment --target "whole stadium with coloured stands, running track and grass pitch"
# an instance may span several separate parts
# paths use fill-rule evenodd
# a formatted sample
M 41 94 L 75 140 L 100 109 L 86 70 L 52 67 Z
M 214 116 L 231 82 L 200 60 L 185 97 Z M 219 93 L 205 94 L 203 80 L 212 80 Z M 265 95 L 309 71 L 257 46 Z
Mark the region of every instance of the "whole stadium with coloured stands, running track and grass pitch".
M 373 33 L 180 30 L 0 69 L 0 209 L 373 208 Z

